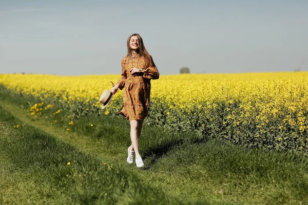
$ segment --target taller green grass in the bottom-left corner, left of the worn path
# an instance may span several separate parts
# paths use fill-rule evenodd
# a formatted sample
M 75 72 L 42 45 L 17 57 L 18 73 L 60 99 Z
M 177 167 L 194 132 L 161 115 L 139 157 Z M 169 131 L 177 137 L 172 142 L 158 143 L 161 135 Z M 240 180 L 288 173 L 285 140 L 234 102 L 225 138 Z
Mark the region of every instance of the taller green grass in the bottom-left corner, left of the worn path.
M 22 124 L 0 108 L 0 203 L 178 203 L 138 177 Z M 12 125 L 20 124 L 12 129 Z M 70 165 L 67 165 L 71 162 Z M 28 201 L 29 200 L 29 201 Z

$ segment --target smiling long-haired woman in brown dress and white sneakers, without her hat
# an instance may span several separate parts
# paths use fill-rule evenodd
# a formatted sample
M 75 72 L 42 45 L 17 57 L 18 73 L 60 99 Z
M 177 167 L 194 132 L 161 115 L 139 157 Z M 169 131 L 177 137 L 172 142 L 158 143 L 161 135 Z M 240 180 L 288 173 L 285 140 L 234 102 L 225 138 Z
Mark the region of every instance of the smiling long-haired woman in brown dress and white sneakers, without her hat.
M 132 163 L 136 154 L 136 166 L 143 167 L 139 153 L 139 136 L 144 118 L 150 106 L 151 79 L 158 79 L 159 72 L 137 33 L 127 39 L 127 55 L 122 58 L 122 75 L 117 85 L 111 88 L 114 94 L 124 88 L 123 108 L 120 112 L 130 122 L 131 145 L 128 147 L 127 162 Z

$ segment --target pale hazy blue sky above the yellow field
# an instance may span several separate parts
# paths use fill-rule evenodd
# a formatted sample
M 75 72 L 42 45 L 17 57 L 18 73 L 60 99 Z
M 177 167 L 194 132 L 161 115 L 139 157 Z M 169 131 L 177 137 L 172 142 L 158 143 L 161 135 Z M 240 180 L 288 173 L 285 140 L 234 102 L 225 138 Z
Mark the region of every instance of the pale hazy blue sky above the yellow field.
M 139 33 L 161 74 L 308 71 L 308 1 L 0 0 L 0 73 L 120 74 Z

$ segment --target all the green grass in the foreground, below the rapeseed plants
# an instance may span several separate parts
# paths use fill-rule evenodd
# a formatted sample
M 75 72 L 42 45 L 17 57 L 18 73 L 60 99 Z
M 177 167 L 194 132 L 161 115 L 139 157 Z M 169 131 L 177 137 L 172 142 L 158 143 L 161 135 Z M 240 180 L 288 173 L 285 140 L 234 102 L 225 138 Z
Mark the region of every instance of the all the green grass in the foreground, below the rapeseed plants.
M 126 162 L 125 119 L 88 116 L 70 126 L 68 113 L 44 117 L 57 108 L 33 120 L 23 98 L 1 94 L 0 103 L 0 203 L 308 203 L 308 160 L 297 154 L 144 126 L 138 169 Z

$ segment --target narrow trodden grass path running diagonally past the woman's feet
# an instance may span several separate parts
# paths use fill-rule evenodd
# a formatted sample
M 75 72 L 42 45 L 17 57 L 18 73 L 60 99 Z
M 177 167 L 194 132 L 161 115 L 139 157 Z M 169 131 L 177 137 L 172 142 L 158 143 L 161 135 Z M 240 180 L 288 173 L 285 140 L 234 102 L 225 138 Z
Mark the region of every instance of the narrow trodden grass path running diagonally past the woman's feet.
M 62 129 L 59 129 L 54 126 L 50 126 L 50 123 L 44 120 L 37 120 L 33 121 L 29 117 L 29 113 L 27 113 L 24 110 L 18 109 L 16 106 L 12 104 L 5 103 L 2 101 L 2 106 L 5 108 L 5 110 L 9 110 L 15 117 L 20 119 L 21 121 L 25 122 L 26 125 L 31 125 L 35 127 L 36 129 L 42 129 L 46 133 L 50 133 L 57 138 L 61 139 L 64 142 L 67 142 L 70 145 L 73 145 L 74 147 L 78 148 L 78 150 L 91 154 L 102 161 L 102 163 L 107 163 L 108 166 L 111 167 L 121 167 L 121 169 L 128 171 L 132 174 L 138 174 L 138 177 L 140 180 L 144 180 L 145 183 L 148 185 L 151 185 L 156 188 L 164 188 L 164 192 L 168 193 L 170 196 L 174 196 L 177 198 L 182 199 L 182 202 L 186 203 L 188 201 L 192 202 L 194 201 L 194 198 L 188 198 L 187 197 L 194 193 L 194 183 L 191 183 L 189 179 L 181 179 L 178 181 L 178 175 L 174 174 L 172 175 L 170 172 L 166 170 L 162 170 L 160 173 L 156 172 L 147 172 L 147 168 L 145 169 L 138 169 L 136 166 L 128 165 L 126 162 L 126 145 L 127 142 L 129 142 L 129 139 L 127 138 L 126 143 L 121 140 L 118 140 L 117 138 L 111 137 L 110 140 L 108 139 L 101 139 L 101 138 L 93 138 L 86 135 L 78 134 L 78 132 L 63 132 Z M 123 120 L 123 122 L 125 122 Z M 109 132 L 117 133 L 119 130 L 120 132 L 117 134 L 118 137 L 123 138 L 123 135 L 129 136 L 128 133 L 128 127 L 125 124 L 117 124 L 117 122 L 114 119 L 111 119 L 111 121 L 107 122 L 108 127 L 114 126 L 113 130 L 109 130 Z M 122 132 L 121 132 L 122 131 Z M 108 131 L 106 131 L 108 132 Z M 156 131 L 150 131 L 151 134 L 154 134 Z M 110 143 L 112 142 L 113 143 Z M 159 157 L 159 156 L 157 156 Z M 157 158 L 153 157 L 153 158 Z M 145 160 L 145 162 L 154 160 L 154 159 L 148 159 Z M 73 160 L 73 159 L 72 159 Z M 151 162 L 150 162 L 151 163 Z M 155 183 L 152 183 L 152 179 L 155 177 Z M 170 184 L 172 184 L 172 187 L 170 189 Z M 179 185 L 179 187 L 177 187 Z M 186 187 L 186 190 L 181 190 L 182 187 Z M 198 186 L 198 188 L 204 188 L 204 186 Z M 189 191 L 190 190 L 190 191 Z M 187 195 L 188 194 L 188 195 Z M 203 192 L 202 192 L 203 194 Z M 182 195 L 182 196 L 181 196 Z M 186 199 L 186 200 L 185 200 Z M 185 202 L 186 201 L 186 202 Z M 204 196 L 196 197 L 197 203 L 202 202 L 203 204 L 206 204 L 206 200 L 204 199 Z M 230 204 L 230 203 L 227 203 Z

